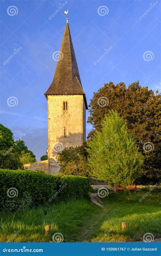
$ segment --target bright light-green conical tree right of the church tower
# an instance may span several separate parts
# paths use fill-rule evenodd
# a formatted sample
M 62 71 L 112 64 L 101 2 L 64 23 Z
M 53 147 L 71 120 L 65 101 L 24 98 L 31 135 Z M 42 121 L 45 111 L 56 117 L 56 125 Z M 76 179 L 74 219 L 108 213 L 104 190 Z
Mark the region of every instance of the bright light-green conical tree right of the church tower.
M 124 186 L 133 184 L 141 176 L 144 157 L 116 111 L 110 111 L 102 131 L 96 130 L 87 145 L 90 175 L 94 179 Z

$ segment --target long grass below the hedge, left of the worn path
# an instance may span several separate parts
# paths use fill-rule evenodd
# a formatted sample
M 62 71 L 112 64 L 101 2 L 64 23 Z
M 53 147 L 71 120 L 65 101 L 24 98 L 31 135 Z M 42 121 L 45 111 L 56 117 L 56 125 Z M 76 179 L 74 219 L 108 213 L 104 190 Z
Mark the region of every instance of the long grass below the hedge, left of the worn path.
M 89 200 L 82 199 L 14 214 L 1 212 L 0 242 L 49 242 L 56 232 L 62 233 L 66 241 L 74 241 L 83 221 L 79 216 L 84 213 L 90 217 L 92 208 Z M 51 236 L 45 235 L 46 225 L 51 225 Z

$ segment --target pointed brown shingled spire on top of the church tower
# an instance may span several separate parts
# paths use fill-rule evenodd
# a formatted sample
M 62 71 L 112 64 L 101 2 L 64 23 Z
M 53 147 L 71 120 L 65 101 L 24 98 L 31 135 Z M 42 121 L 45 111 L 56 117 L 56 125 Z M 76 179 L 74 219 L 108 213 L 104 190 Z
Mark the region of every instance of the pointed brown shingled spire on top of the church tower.
M 61 43 L 54 79 L 44 95 L 47 98 L 47 95 L 62 94 L 83 94 L 86 109 L 88 109 L 85 92 L 82 88 L 82 83 L 75 58 L 73 43 L 68 25 L 68 18 Z

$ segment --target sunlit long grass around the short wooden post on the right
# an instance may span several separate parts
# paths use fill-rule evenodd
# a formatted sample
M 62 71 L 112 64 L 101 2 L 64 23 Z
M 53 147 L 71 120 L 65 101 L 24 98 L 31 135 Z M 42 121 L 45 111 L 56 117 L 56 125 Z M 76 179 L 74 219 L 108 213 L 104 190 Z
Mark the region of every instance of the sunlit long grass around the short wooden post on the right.
M 126 222 L 126 229 L 122 229 L 122 222 Z M 161 212 L 126 215 L 123 218 L 112 218 L 104 221 L 99 235 L 92 242 L 139 241 L 145 233 L 160 237 Z

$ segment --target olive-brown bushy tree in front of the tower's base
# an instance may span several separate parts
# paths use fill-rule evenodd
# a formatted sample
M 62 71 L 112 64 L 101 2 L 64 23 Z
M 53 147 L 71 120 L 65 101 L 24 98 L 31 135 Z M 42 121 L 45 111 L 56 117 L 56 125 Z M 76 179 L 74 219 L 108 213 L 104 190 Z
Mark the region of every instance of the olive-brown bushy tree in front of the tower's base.
M 87 151 L 85 146 L 65 148 L 58 153 L 60 173 L 64 175 L 88 176 Z

